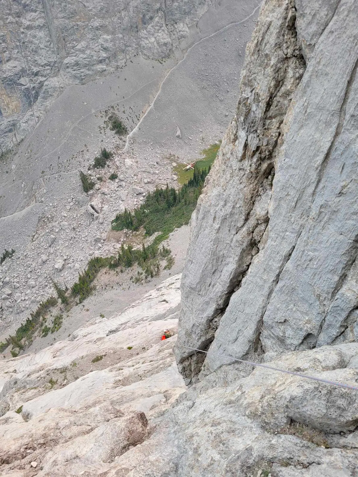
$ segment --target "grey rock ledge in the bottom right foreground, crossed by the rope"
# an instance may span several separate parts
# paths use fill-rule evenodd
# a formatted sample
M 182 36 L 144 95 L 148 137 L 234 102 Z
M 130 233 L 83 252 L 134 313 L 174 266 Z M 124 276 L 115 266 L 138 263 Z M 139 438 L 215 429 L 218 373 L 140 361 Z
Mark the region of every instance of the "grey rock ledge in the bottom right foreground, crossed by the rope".
M 348 343 L 267 364 L 355 385 L 357 353 L 357 343 Z M 356 393 L 267 369 L 226 387 L 202 382 L 179 396 L 149 439 L 89 475 L 350 477 Z

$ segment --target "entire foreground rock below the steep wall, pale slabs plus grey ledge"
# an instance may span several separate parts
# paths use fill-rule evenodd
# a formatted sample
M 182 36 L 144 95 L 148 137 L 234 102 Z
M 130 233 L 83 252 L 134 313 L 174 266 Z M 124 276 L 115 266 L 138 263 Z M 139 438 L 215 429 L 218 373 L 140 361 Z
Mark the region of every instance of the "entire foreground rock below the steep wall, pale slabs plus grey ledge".
M 250 367 L 232 384 L 212 373 L 186 391 L 176 335 L 160 341 L 163 328 L 176 331 L 179 283 L 180 275 L 118 316 L 0 362 L 1 475 L 355 475 L 354 389 Z M 354 387 L 358 344 L 265 364 Z

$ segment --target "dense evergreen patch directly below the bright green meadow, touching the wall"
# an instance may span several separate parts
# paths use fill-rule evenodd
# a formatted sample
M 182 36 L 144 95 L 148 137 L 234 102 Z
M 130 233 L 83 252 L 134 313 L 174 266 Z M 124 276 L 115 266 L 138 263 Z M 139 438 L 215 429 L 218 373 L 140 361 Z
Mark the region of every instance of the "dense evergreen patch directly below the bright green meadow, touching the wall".
M 179 191 L 174 187 L 156 188 L 148 192 L 144 203 L 134 212 L 125 209 L 112 221 L 114 230 L 138 230 L 144 226 L 146 234 L 170 233 L 174 228 L 187 224 L 196 207 L 201 188 L 209 170 L 194 167 L 192 178 Z

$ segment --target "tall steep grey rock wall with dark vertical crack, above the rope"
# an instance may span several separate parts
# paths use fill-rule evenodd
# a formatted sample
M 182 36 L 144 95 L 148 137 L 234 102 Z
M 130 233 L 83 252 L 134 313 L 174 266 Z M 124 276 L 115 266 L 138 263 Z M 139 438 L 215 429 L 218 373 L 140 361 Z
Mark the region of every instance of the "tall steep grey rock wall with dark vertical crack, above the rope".
M 178 342 L 210 354 L 177 347 L 187 383 L 218 354 L 357 340 L 357 18 L 354 0 L 263 2 L 192 220 Z

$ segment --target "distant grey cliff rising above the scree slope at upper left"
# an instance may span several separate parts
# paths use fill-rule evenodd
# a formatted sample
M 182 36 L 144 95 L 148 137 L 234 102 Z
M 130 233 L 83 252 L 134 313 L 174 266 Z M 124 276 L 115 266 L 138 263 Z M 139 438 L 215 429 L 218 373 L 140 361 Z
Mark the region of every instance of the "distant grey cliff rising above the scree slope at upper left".
M 0 137 L 6 151 L 39 123 L 66 84 L 133 55 L 167 58 L 211 0 L 0 1 Z

